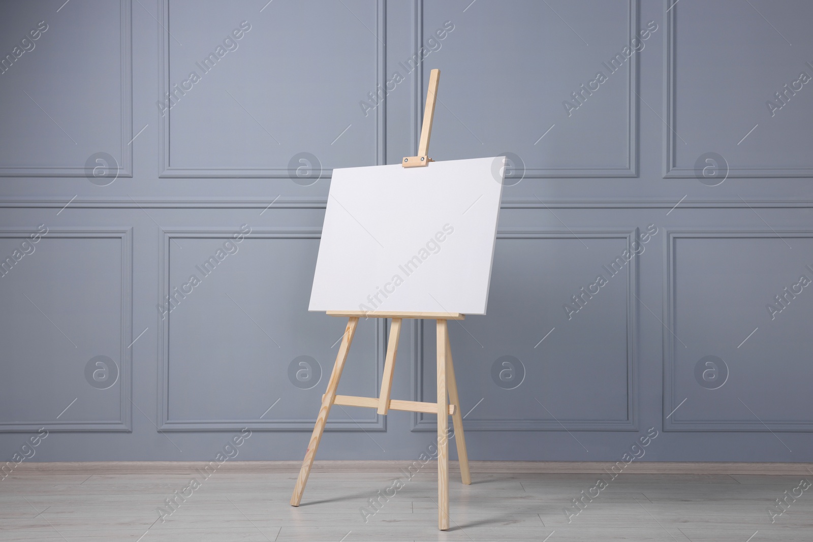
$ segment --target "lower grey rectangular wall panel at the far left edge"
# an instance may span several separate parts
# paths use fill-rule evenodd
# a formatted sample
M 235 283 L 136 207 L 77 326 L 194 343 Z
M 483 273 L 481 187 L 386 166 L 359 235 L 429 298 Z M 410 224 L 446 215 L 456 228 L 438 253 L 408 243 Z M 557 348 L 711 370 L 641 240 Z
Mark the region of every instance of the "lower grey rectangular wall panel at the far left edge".
M 0 431 L 130 430 L 132 235 L 0 230 Z

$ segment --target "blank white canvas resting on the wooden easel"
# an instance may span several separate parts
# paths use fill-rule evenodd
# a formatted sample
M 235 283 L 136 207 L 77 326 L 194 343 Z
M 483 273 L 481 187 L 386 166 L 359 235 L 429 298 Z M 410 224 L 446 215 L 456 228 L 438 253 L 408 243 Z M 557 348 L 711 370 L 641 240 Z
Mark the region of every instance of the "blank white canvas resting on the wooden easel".
M 333 170 L 309 310 L 485 314 L 505 158 Z

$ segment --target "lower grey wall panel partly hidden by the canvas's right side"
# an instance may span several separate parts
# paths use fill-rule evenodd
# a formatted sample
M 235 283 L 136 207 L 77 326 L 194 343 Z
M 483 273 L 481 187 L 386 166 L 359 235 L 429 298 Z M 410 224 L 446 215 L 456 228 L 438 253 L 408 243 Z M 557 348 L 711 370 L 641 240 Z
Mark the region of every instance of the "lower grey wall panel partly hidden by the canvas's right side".
M 636 234 L 498 233 L 488 314 L 450 323 L 467 431 L 636 429 L 637 257 L 623 256 Z M 415 330 L 418 401 L 436 394 L 433 324 Z M 435 427 L 415 414 L 415 429 Z

